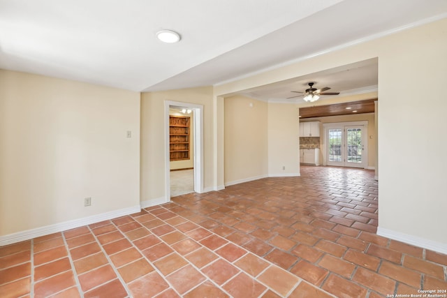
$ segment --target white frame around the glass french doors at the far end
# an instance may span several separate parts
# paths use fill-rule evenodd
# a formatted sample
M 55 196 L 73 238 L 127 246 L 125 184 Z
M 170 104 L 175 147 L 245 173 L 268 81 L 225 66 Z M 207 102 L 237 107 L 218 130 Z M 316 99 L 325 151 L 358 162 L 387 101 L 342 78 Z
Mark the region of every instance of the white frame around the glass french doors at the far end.
M 343 137 L 346 137 L 345 127 L 346 126 L 361 126 L 362 127 L 362 167 L 368 167 L 368 121 L 352 121 L 352 122 L 339 122 L 339 123 L 324 123 L 323 124 L 323 148 L 321 148 L 323 155 L 323 165 L 328 165 L 328 130 L 330 128 L 341 128 L 344 133 Z M 346 163 L 343 163 L 346 166 Z

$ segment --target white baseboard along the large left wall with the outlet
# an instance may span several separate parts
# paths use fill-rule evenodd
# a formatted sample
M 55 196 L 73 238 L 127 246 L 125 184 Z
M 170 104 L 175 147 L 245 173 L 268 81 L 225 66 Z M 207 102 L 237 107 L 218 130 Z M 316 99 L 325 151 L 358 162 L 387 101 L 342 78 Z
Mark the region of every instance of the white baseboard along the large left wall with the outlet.
M 140 206 L 138 205 L 138 206 L 134 206 L 134 207 L 105 212 L 102 214 L 87 216 L 84 218 L 73 219 L 72 221 L 64 221 L 63 223 L 55 223 L 54 225 L 45 225 L 44 227 L 41 227 L 41 228 L 35 228 L 35 229 L 17 232 L 17 233 L 13 233 L 13 234 L 7 234 L 4 236 L 0 236 L 0 246 L 7 245 L 7 244 L 13 244 L 13 243 L 17 243 L 20 241 L 25 241 L 25 240 L 33 239 L 36 237 L 53 234 L 56 232 L 62 232 L 62 231 L 71 230 L 74 228 L 79 228 L 79 227 L 82 227 L 83 225 L 90 225 L 91 223 L 107 221 L 108 219 L 137 213 L 140 210 L 141 210 Z

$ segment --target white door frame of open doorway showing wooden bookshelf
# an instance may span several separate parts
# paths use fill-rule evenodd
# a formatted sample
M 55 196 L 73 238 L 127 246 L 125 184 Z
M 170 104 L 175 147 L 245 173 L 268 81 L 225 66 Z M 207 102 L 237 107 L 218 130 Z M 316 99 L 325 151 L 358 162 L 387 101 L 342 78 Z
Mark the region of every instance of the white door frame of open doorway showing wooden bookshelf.
M 165 202 L 170 202 L 169 108 L 193 110 L 194 191 L 203 193 L 203 105 L 165 100 Z

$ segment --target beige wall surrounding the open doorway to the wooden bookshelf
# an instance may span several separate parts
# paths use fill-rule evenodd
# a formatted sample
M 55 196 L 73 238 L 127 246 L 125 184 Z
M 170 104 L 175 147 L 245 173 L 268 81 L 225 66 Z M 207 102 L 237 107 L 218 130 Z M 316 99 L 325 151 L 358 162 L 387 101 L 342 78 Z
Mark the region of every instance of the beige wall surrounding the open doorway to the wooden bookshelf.
M 166 199 L 165 101 L 203 105 L 205 188 L 213 188 L 214 135 L 212 87 L 145 92 L 141 94 L 141 196 L 140 200 Z

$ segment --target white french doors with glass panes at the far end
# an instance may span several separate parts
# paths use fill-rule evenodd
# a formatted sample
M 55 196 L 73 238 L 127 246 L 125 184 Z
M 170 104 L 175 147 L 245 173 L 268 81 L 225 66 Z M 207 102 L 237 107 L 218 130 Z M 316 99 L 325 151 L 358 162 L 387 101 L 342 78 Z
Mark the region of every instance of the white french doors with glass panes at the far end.
M 328 127 L 326 135 L 326 161 L 341 167 L 365 167 L 365 126 Z

